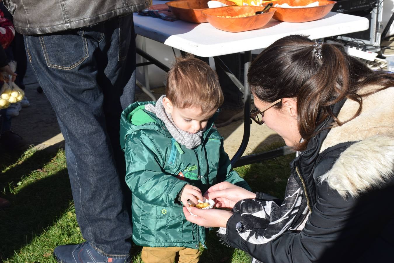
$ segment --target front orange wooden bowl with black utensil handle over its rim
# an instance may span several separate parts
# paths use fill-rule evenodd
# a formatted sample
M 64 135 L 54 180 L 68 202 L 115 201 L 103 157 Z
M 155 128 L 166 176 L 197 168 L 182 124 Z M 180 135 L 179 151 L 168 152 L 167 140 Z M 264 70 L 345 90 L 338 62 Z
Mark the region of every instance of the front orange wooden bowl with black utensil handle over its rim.
M 213 9 L 206 9 L 202 13 L 206 20 L 217 29 L 228 32 L 242 32 L 261 28 L 268 23 L 275 13 L 275 8 L 271 7 L 269 12 L 254 15 L 256 11 L 262 11 L 261 6 L 225 6 Z M 236 17 L 243 14 L 253 14 L 248 17 Z M 227 18 L 230 16 L 231 18 Z

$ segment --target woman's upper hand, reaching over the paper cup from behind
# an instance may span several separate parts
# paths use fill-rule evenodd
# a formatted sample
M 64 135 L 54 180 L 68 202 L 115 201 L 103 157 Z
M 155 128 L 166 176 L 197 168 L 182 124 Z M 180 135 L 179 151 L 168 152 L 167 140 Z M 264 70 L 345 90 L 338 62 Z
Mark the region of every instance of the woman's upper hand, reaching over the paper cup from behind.
M 211 186 L 204 196 L 214 199 L 216 207 L 232 208 L 236 202 L 246 198 L 256 198 L 256 194 L 229 182 Z

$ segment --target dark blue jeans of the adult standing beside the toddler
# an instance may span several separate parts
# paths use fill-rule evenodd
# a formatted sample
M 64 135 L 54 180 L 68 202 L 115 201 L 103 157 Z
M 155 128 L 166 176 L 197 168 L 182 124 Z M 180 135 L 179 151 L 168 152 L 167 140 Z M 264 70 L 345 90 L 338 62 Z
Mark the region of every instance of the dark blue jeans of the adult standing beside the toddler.
M 84 239 L 105 256 L 131 248 L 131 193 L 119 144 L 122 110 L 134 101 L 132 14 L 85 28 L 25 36 L 28 59 L 56 112 Z

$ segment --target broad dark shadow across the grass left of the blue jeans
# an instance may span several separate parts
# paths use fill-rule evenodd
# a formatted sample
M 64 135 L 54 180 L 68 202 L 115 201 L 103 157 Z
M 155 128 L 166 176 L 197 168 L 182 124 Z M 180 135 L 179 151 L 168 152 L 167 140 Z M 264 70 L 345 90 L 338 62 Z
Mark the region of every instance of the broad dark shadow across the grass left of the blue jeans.
M 54 224 L 69 207 L 70 200 L 67 169 L 26 185 L 11 196 L 11 207 L 0 211 L 0 262 Z

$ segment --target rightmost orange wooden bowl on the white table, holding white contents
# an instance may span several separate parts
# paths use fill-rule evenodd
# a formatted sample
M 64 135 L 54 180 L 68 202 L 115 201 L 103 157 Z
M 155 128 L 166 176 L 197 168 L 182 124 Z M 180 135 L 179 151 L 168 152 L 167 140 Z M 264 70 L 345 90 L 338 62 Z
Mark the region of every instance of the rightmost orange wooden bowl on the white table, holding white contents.
M 316 0 L 279 0 L 275 4 L 289 4 L 290 6 L 306 6 L 307 4 L 316 2 Z M 335 1 L 318 0 L 319 6 L 314 7 L 299 7 L 299 8 L 282 8 L 275 7 L 277 11 L 273 18 L 284 22 L 308 22 L 325 17 L 329 11 L 336 4 Z

